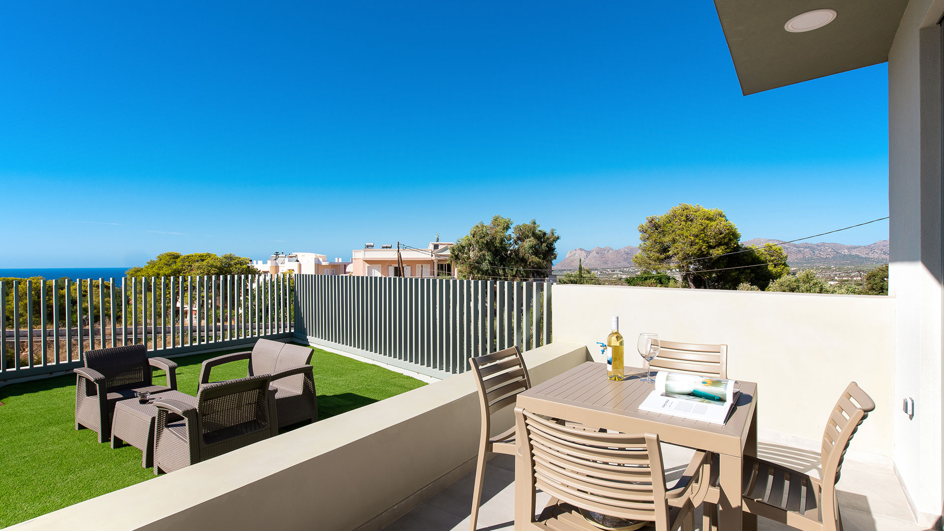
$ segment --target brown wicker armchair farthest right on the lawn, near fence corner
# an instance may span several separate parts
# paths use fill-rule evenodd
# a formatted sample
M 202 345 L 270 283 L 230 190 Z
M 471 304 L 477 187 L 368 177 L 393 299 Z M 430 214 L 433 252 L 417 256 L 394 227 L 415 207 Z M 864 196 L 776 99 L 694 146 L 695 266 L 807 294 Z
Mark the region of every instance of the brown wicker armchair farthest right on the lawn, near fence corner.
M 203 362 L 200 385 L 210 383 L 211 369 L 236 360 L 249 360 L 248 376 L 271 374 L 276 391 L 278 427 L 318 420 L 318 399 L 314 390 L 312 349 L 301 345 L 260 339 L 252 351 L 217 356 Z

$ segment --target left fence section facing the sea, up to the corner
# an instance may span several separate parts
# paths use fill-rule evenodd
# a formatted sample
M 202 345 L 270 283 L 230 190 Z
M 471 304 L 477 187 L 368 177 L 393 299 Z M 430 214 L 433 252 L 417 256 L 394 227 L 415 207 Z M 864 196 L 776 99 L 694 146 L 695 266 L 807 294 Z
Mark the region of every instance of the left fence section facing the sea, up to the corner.
M 285 275 L 0 281 L 0 381 L 70 370 L 103 347 L 170 355 L 288 338 L 293 312 Z

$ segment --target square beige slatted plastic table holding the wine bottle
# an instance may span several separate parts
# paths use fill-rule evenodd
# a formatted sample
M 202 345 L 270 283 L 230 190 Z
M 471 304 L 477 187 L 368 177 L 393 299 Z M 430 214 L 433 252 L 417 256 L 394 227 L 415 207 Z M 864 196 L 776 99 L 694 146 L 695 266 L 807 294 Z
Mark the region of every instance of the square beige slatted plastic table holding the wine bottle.
M 757 385 L 737 381 L 740 397 L 731 417 L 720 425 L 640 411 L 639 404 L 654 385 L 639 381 L 645 376 L 640 368 L 626 368 L 626 373 L 632 375 L 629 380 L 614 382 L 607 380 L 605 364 L 586 362 L 522 391 L 516 404 L 539 415 L 624 433 L 654 433 L 663 442 L 719 454 L 718 527 L 720 531 L 755 531 L 757 517 L 741 512 L 744 489 L 741 461 L 744 455 L 757 454 Z M 534 516 L 534 490 L 528 488 L 528 465 L 523 455 L 516 458 L 515 529 L 525 528 Z

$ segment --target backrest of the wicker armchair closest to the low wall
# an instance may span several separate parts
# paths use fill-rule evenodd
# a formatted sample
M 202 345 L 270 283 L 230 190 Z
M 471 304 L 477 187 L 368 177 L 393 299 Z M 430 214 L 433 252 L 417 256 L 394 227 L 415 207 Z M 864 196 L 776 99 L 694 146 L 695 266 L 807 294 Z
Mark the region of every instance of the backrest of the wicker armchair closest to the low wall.
M 270 429 L 269 375 L 200 385 L 196 392 L 198 433 L 204 445 Z

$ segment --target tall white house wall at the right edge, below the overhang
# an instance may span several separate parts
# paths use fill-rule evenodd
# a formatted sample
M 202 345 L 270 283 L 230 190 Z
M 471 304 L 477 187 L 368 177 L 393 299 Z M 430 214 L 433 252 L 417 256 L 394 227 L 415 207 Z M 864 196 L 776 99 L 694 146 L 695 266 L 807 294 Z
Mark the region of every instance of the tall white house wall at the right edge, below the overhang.
M 913 508 L 941 514 L 941 58 L 944 5 L 913 0 L 888 54 L 889 293 L 896 300 L 896 469 Z M 915 417 L 902 399 L 915 400 Z M 921 515 L 919 515 L 921 516 Z M 922 519 L 927 523 L 927 519 Z

